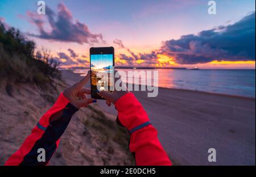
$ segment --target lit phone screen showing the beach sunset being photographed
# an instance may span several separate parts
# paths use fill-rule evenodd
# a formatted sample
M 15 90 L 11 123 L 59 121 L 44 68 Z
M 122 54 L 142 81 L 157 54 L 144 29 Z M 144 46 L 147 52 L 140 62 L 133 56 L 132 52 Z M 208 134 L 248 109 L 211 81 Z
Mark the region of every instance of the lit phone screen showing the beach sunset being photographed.
M 90 54 L 90 79 L 92 98 L 104 99 L 97 94 L 97 90 L 112 90 L 113 73 L 113 54 Z

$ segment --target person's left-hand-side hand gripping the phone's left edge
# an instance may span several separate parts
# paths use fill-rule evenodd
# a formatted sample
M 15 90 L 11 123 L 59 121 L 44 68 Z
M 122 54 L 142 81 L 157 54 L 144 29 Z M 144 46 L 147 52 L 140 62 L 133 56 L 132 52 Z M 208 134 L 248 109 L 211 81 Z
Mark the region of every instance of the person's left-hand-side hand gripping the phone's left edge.
M 96 103 L 96 99 L 87 98 L 86 94 L 90 94 L 89 88 L 82 88 L 88 82 L 90 78 L 90 71 L 87 75 L 81 79 L 81 81 L 75 83 L 73 86 L 64 90 L 63 95 L 65 98 L 73 104 L 76 108 L 86 107 L 90 103 Z

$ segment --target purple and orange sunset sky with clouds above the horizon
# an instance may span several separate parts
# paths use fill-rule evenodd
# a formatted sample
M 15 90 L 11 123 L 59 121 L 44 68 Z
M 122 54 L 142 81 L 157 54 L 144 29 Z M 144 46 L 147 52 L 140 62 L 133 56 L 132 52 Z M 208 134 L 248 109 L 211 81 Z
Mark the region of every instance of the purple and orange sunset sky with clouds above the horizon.
M 89 67 L 89 48 L 113 46 L 117 66 L 255 69 L 255 1 L 1 0 L 0 20 L 47 48 L 61 67 Z

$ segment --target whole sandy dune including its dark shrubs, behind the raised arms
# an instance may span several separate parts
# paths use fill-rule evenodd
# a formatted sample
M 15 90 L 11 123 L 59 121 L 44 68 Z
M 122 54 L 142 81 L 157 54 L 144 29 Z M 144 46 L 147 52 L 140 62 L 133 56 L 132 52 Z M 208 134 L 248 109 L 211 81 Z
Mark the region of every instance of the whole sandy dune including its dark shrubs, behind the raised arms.
M 9 104 L 0 104 L 0 109 L 5 110 L 0 115 L 0 120 L 3 122 L 0 134 L 9 133 L 10 126 L 13 126 L 14 135 L 10 136 L 15 140 L 15 144 L 13 141 L 5 141 L 6 146 L 2 148 L 5 150 L 3 154 L 5 159 L 10 155 L 10 150 L 5 147 L 11 146 L 13 148 L 11 150 L 18 148 L 22 143 L 22 138 L 16 134 L 20 134 L 20 130 L 22 134 L 29 133 L 31 125 L 38 121 L 38 116 L 55 102 L 59 92 L 64 89 L 66 83 L 58 81 L 61 79 L 61 73 L 57 70 L 58 65 L 48 50 L 42 49 L 36 52 L 33 41 L 23 37 L 15 28 L 5 28 L 0 22 L 0 96 L 5 98 L 2 100 L 9 102 Z M 51 89 L 52 87 L 55 89 Z M 5 88 L 5 91 L 2 88 Z M 34 92 L 35 88 L 42 89 Z M 3 94 L 3 92 L 6 93 Z M 12 103 L 15 103 L 14 106 Z M 68 138 L 64 138 L 63 151 L 61 153 L 57 151 L 57 157 L 53 159 L 55 164 L 61 162 L 67 165 L 69 163 L 77 165 L 80 162 L 86 162 L 91 165 L 134 165 L 134 158 L 128 150 L 127 129 L 115 124 L 108 115 L 97 109 L 97 105 L 88 106 L 88 108 L 89 114 L 80 111 L 82 121 L 74 115 L 73 124 L 69 125 L 71 130 L 67 129 L 65 133 Z M 21 120 L 20 117 L 22 117 Z M 85 120 L 84 117 L 87 119 Z M 85 125 L 81 129 L 80 123 Z M 24 127 L 24 124 L 27 128 L 19 129 Z M 91 137 L 94 138 L 93 141 L 90 140 Z M 70 145 L 74 141 L 78 144 Z M 89 146 L 89 152 L 82 149 L 85 148 L 82 147 L 85 144 Z M 70 147 L 73 147 L 73 150 Z M 91 153 L 96 153 L 97 156 Z M 69 155 L 65 156 L 65 154 Z M 80 158 L 73 162 L 72 155 Z M 120 157 L 122 158 L 119 159 Z

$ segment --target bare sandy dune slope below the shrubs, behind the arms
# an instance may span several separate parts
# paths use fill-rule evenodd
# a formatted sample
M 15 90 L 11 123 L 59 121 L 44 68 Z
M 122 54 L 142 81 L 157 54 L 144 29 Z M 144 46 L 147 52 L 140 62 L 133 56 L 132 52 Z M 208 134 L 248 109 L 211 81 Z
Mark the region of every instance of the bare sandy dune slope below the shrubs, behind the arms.
M 31 133 L 40 117 L 67 85 L 42 90 L 31 84 L 0 85 L 0 165 Z M 115 124 L 115 116 L 93 104 L 73 115 L 49 165 L 134 165 L 127 151 L 129 136 Z

